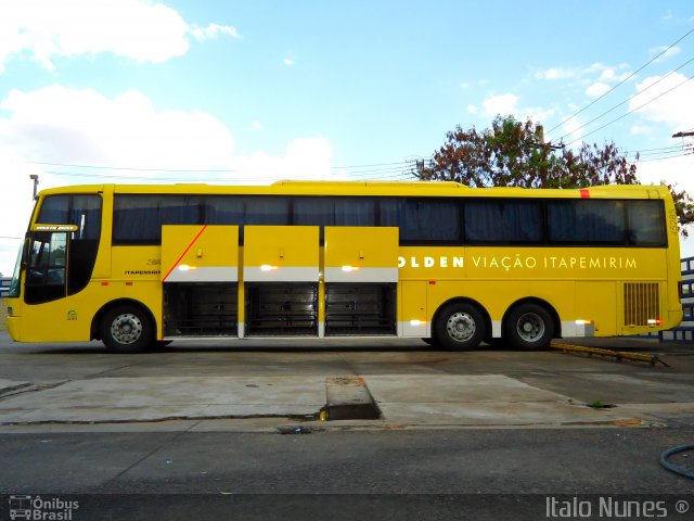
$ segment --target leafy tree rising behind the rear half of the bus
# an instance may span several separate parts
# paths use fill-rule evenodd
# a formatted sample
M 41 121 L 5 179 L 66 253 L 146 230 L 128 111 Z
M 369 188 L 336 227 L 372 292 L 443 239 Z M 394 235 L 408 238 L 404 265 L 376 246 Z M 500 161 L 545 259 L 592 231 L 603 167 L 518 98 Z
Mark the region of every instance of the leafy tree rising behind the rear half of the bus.
M 603 147 L 583 143 L 577 151 L 554 147 L 544 142 L 540 125 L 500 115 L 483 131 L 455 127 L 428 164 L 417 164 L 413 174 L 422 180 L 457 181 L 473 188 L 639 185 L 637 165 L 614 142 Z M 686 236 L 683 226 L 694 223 L 694 201 L 685 191 L 668 188 Z

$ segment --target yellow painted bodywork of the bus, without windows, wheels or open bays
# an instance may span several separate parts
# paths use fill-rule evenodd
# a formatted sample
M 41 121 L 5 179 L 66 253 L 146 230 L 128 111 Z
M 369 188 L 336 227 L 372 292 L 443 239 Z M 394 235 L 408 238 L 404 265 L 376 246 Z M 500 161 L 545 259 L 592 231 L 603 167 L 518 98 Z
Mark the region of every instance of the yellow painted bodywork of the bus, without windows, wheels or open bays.
M 8 325 L 23 342 L 86 341 L 94 331 L 99 312 L 115 301 L 145 306 L 162 334 L 162 279 L 171 267 L 236 267 L 239 320 L 244 320 L 244 278 L 272 281 L 285 269 L 319 284 L 322 306 L 325 268 L 388 268 L 397 266 L 397 320 L 404 335 L 430 334 L 436 312 L 453 298 L 477 302 L 489 318 L 494 336 L 510 307 L 522 300 L 547 302 L 558 316 L 562 333 L 590 323 L 593 334 L 637 334 L 676 327 L 682 318 L 679 226 L 665 187 L 606 186 L 579 190 L 468 189 L 437 182 L 280 182 L 269 187 L 94 186 L 44 190 L 39 198 L 65 193 L 101 193 L 101 245 L 89 284 L 79 293 L 53 302 L 29 305 L 9 298 L 13 308 Z M 665 202 L 667 247 L 538 246 L 398 246 L 397 229 L 325 227 L 325 246 L 318 226 L 245 226 L 244 245 L 232 239 L 232 228 L 208 226 L 181 257 L 203 226 L 165 226 L 164 246 L 115 245 L 113 198 L 116 193 L 345 195 L 345 196 L 461 196 L 645 200 Z M 41 199 L 39 199 L 39 202 Z M 36 212 L 35 212 L 36 215 Z M 188 242 L 187 242 L 188 241 Z M 168 250 L 169 242 L 172 244 Z M 176 244 L 174 246 L 174 244 Z M 198 252 L 202 250 L 202 252 Z M 395 253 L 394 253 L 395 251 Z M 361 257 L 363 254 L 363 258 Z M 202 256 L 201 256 L 202 255 Z M 396 258 L 394 259 L 394 255 Z M 359 263 L 363 263 L 360 265 Z M 178 263 L 178 264 L 177 264 Z M 252 269 L 249 269 L 252 268 Z M 264 276 L 266 272 L 270 274 Z M 265 277 L 265 278 L 264 278 Z M 654 312 L 655 309 L 655 312 Z M 651 315 L 655 316 L 651 316 Z M 323 318 L 321 308 L 320 318 Z M 639 323 L 635 322 L 639 319 Z M 646 325 L 643 320 L 660 320 Z

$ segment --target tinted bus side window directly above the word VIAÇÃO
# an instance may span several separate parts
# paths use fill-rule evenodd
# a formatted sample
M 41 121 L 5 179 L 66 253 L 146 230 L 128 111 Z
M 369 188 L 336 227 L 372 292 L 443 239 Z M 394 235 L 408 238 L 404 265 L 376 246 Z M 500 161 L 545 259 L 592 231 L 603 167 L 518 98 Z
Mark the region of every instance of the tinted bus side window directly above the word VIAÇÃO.
M 543 239 L 538 202 L 465 202 L 465 239 L 471 243 L 537 243 Z

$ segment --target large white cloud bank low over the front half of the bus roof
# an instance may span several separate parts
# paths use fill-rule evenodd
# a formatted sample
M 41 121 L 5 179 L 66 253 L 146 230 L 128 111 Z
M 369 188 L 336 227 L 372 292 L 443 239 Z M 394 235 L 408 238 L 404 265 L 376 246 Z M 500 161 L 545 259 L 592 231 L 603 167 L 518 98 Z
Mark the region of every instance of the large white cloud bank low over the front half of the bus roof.
M 264 152 L 237 156 L 234 145 L 232 135 L 215 116 L 197 111 L 158 110 L 137 90 L 115 98 L 60 86 L 28 92 L 12 90 L 0 101 L 0 171 L 4 173 L 0 236 L 24 234 L 33 205 L 28 178 L 33 174 L 40 176 L 41 189 L 100 182 L 218 179 L 266 183 L 279 178 L 336 178 L 331 165 L 333 147 L 325 138 L 295 139 L 281 156 Z M 93 169 L 31 162 L 220 169 L 229 174 Z M 11 271 L 18 244 L 18 240 L 0 240 L 1 272 Z

